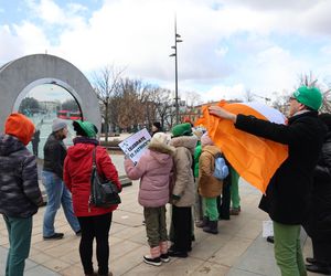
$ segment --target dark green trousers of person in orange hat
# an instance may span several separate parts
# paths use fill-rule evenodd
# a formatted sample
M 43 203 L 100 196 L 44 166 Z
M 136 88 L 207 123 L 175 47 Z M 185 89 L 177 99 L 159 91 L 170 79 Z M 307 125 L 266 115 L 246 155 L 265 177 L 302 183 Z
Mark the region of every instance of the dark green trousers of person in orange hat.
M 26 219 L 3 215 L 9 237 L 6 276 L 22 276 L 31 245 L 32 216 Z

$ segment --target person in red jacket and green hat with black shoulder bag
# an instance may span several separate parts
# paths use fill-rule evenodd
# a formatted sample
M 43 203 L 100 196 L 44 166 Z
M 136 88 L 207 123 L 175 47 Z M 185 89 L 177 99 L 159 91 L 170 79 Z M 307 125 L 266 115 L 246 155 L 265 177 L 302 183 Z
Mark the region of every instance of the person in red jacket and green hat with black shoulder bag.
M 110 276 L 109 272 L 109 231 L 113 220 L 110 208 L 96 208 L 89 204 L 90 173 L 93 150 L 95 149 L 96 166 L 99 176 L 115 183 L 121 190 L 117 170 L 107 150 L 99 146 L 96 139 L 97 127 L 89 121 L 75 120 L 76 131 L 74 146 L 67 150 L 64 162 L 64 182 L 73 194 L 74 212 L 82 226 L 79 255 L 86 276 Z M 98 273 L 93 268 L 93 242 L 96 240 L 96 259 Z

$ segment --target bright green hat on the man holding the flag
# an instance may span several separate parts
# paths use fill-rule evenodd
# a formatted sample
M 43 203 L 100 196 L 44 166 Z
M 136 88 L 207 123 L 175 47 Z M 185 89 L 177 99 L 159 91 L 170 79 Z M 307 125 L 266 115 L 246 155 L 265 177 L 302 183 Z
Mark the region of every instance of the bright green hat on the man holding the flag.
M 292 97 L 313 110 L 318 110 L 322 105 L 322 94 L 317 87 L 301 86 L 293 92 Z

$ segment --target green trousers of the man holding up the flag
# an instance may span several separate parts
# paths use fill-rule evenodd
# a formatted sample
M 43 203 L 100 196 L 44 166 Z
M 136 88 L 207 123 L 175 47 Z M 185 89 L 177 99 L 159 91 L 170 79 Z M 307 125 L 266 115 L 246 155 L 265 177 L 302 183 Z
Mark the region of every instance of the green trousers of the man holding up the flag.
M 300 225 L 286 225 L 274 221 L 274 251 L 281 276 L 307 276 L 300 230 Z

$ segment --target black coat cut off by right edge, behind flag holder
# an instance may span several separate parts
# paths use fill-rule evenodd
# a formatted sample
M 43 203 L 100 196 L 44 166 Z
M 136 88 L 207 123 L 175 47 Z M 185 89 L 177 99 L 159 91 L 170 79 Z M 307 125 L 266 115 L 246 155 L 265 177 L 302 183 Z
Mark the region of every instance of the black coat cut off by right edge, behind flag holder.
M 331 132 L 328 132 L 321 157 L 314 169 L 311 190 L 308 234 L 320 241 L 331 241 Z M 308 227 L 307 227 L 308 226 Z

